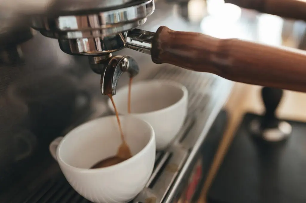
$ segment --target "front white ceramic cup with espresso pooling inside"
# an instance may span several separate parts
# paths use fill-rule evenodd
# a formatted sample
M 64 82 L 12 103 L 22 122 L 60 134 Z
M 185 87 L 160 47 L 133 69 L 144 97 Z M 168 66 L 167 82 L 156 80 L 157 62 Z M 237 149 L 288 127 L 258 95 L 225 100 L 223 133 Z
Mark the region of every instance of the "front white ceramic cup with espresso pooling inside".
M 133 156 L 113 166 L 90 169 L 117 153 L 121 138 L 115 116 L 89 121 L 50 144 L 50 153 L 70 185 L 95 203 L 120 203 L 135 198 L 153 171 L 155 136 L 152 126 L 132 116 L 120 116 L 120 121 Z

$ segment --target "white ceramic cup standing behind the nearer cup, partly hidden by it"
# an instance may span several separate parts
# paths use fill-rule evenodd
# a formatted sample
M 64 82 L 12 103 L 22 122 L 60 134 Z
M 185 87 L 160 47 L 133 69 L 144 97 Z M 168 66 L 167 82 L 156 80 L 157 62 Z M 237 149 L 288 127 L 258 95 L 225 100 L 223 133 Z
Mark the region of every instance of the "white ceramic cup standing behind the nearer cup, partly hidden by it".
M 129 87 L 118 89 L 113 96 L 121 115 L 128 114 Z M 112 102 L 109 108 L 114 112 Z M 178 134 L 188 108 L 188 91 L 182 84 L 170 80 L 144 80 L 131 87 L 131 115 L 151 124 L 155 132 L 156 149 L 162 150 Z

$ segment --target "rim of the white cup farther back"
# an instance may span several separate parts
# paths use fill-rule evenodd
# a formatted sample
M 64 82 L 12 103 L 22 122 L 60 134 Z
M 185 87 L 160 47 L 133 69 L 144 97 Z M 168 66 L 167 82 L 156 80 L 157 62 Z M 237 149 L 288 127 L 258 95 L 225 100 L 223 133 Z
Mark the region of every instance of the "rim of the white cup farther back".
M 152 114 L 158 114 L 158 113 L 161 113 L 161 112 L 164 112 L 164 111 L 168 111 L 168 110 L 171 110 L 173 108 L 175 108 L 175 106 L 181 104 L 182 102 L 184 102 L 184 99 L 188 99 L 188 90 L 187 88 L 181 84 L 181 83 L 178 83 L 178 82 L 175 82 L 173 80 L 164 80 L 164 79 L 157 79 L 157 80 L 141 80 L 141 81 L 137 81 L 136 83 L 132 84 L 132 87 L 133 85 L 141 85 L 141 84 L 147 84 L 147 83 L 167 83 L 167 84 L 170 84 L 171 86 L 173 87 L 177 87 L 178 89 L 180 89 L 181 91 L 183 91 L 183 95 L 182 97 L 177 101 L 175 102 L 174 104 L 171 104 L 165 108 L 162 108 L 162 109 L 158 109 L 156 111 L 150 111 L 150 112 L 144 112 L 144 113 L 130 113 L 128 114 L 127 112 L 125 113 L 122 113 L 120 111 L 118 111 L 119 114 L 121 115 L 132 115 L 132 116 L 142 116 L 142 115 L 152 115 Z M 121 87 L 120 89 L 117 90 L 117 92 L 120 92 L 120 91 L 124 91 L 126 89 L 128 89 L 129 87 L 127 85 L 125 85 L 124 87 Z M 107 105 L 108 105 L 108 108 L 114 113 L 115 110 L 113 108 L 113 104 L 110 100 L 110 98 L 107 100 Z M 117 107 L 118 109 L 118 107 Z

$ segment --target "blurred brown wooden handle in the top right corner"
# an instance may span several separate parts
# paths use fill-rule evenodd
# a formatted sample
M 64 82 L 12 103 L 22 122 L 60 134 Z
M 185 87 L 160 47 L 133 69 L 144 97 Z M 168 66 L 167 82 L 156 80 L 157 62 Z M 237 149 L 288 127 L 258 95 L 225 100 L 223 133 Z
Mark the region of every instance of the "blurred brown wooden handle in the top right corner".
M 262 13 L 306 21 L 304 0 L 225 0 L 225 2 Z

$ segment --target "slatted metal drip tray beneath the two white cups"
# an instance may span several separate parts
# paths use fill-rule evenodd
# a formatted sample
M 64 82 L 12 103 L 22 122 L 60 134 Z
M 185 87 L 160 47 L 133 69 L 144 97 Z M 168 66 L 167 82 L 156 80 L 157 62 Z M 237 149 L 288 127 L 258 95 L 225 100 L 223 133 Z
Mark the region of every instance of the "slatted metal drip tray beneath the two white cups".
M 144 190 L 133 200 L 133 202 L 170 202 L 174 198 L 174 193 L 178 184 L 186 174 L 186 165 L 191 164 L 195 158 L 195 153 L 199 151 L 199 142 L 203 142 L 205 137 L 200 136 L 204 128 L 210 128 L 213 120 L 221 109 L 225 99 L 219 101 L 219 97 L 214 97 L 216 85 L 219 77 L 208 73 L 197 73 L 175 66 L 165 65 L 148 79 L 166 79 L 177 81 L 188 89 L 189 105 L 188 115 L 184 126 L 179 134 L 167 148 L 166 151 L 157 151 L 153 173 Z M 221 80 L 224 82 L 224 80 Z M 224 84 L 222 84 L 224 85 Z M 218 89 L 218 88 L 217 88 Z M 224 97 L 224 95 L 223 95 Z M 217 98 L 217 99 L 213 99 Z M 215 112 L 212 110 L 215 108 Z M 197 119 L 199 116 L 207 114 L 207 117 Z M 214 115 L 212 115 L 214 114 Z M 208 122 L 208 117 L 212 121 Z M 206 118 L 206 120 L 205 120 Z M 199 124 L 199 120 L 201 120 Z M 203 120 L 203 122 L 202 122 Z M 192 131 L 193 128 L 201 128 L 200 133 Z M 207 129 L 207 131 L 208 131 Z M 207 133 L 205 131 L 205 133 Z M 203 133 L 202 133 L 203 134 Z M 202 139 L 202 140 L 199 140 Z M 195 144 L 196 143 L 196 144 Z M 38 190 L 31 195 L 25 195 L 22 201 L 10 201 L 10 203 L 88 203 L 90 201 L 81 197 L 65 177 L 52 178 L 44 183 Z

